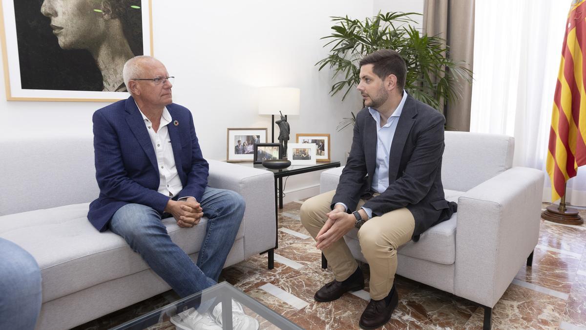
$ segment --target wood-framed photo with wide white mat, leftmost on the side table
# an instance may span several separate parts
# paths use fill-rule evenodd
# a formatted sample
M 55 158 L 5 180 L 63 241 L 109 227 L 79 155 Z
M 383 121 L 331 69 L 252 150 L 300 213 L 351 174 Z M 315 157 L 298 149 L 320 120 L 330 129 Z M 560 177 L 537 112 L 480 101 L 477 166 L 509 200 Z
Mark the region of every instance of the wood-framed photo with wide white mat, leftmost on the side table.
M 253 161 L 257 143 L 267 143 L 267 129 L 228 129 L 226 161 Z

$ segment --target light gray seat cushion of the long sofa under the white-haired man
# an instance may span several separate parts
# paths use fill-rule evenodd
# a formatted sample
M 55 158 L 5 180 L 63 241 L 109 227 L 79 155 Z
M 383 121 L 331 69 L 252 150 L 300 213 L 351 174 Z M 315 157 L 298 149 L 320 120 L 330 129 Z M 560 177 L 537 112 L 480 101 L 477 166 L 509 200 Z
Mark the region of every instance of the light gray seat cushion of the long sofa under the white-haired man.
M 38 262 L 43 302 L 149 268 L 122 237 L 98 232 L 87 220 L 88 207 L 72 204 L 0 217 L 0 237 L 20 245 Z M 163 223 L 183 251 L 199 251 L 207 218 L 193 228 L 180 228 L 173 218 Z M 243 237 L 243 227 L 237 240 Z

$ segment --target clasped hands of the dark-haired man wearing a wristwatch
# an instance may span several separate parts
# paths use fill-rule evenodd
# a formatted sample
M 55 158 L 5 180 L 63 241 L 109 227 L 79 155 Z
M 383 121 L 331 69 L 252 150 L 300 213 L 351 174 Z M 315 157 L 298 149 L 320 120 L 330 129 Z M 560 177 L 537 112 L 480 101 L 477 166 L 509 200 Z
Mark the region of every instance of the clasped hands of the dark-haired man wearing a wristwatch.
M 333 243 L 342 238 L 356 224 L 356 217 L 352 214 L 347 214 L 346 209 L 340 204 L 337 204 L 326 216 L 328 220 L 326 220 L 326 223 L 315 237 L 315 246 L 319 250 L 331 247 Z

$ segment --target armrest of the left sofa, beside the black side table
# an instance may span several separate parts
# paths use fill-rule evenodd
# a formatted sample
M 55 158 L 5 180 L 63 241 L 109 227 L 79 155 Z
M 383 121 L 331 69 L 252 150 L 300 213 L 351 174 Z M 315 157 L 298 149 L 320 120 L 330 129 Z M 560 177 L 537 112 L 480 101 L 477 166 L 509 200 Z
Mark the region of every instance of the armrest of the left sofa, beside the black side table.
M 275 247 L 275 179 L 270 171 L 208 160 L 210 187 L 236 191 L 246 201 L 241 228 L 244 230 L 244 258 Z

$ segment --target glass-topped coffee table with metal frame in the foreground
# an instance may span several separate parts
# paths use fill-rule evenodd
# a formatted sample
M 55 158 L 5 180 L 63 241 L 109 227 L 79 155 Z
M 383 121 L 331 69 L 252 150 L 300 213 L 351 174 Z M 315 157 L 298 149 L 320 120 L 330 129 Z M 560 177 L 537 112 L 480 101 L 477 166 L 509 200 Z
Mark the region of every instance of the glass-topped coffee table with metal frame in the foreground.
M 157 324 L 162 324 L 161 326 L 156 327 L 158 329 L 173 329 L 175 326 L 169 322 L 171 316 L 186 311 L 192 307 L 197 308 L 199 305 L 213 306 L 216 305 L 217 302 L 222 304 L 223 328 L 232 329 L 232 299 L 240 302 L 244 308 L 244 312 L 248 316 L 257 319 L 258 324 L 260 325 L 259 329 L 302 329 L 299 328 L 298 325 L 272 311 L 272 309 L 266 307 L 255 299 L 248 297 L 248 295 L 244 294 L 244 292 L 239 289 L 234 288 L 228 282 L 216 284 L 202 292 L 175 301 L 172 304 L 157 309 L 156 311 L 139 316 L 125 324 L 118 325 L 113 329 L 146 329 Z M 163 325 L 163 323 L 165 323 L 166 326 Z

